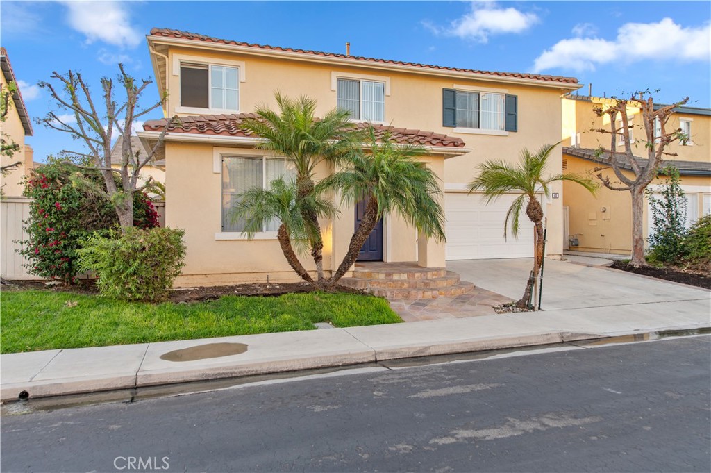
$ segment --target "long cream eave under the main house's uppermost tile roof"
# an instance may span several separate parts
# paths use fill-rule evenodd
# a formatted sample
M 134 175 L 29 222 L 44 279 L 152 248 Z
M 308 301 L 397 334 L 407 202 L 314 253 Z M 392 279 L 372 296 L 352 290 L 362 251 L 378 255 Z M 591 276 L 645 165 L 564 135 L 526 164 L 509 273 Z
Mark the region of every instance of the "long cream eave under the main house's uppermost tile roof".
M 222 49 L 226 51 L 235 51 L 245 55 L 257 55 L 265 57 L 280 56 L 282 58 L 292 59 L 292 60 L 304 60 L 313 63 L 325 63 L 325 64 L 338 64 L 347 65 L 356 68 L 374 68 L 374 69 L 384 69 L 384 70 L 395 70 L 395 71 L 407 71 L 410 73 L 422 74 L 422 75 L 437 75 L 437 76 L 447 76 L 456 78 L 466 78 L 469 80 L 485 80 L 487 82 L 494 83 L 515 83 L 520 85 L 532 85 L 534 87 L 548 87 L 557 90 L 577 90 L 583 86 L 581 83 L 565 83 L 557 82 L 555 80 L 541 80 L 541 79 L 526 79 L 526 78 L 512 78 L 508 76 L 496 76 L 488 74 L 477 74 L 469 73 L 458 70 L 438 70 L 430 68 L 422 68 L 417 65 L 403 65 L 403 64 L 389 64 L 389 63 L 372 63 L 363 62 L 355 58 L 337 58 L 329 56 L 319 56 L 310 55 L 305 53 L 296 53 L 294 51 L 278 51 L 274 49 L 261 50 L 257 48 L 252 48 L 250 46 L 237 46 L 234 44 L 225 43 L 203 43 L 202 41 L 196 41 L 192 39 L 181 39 L 181 38 L 167 38 L 165 36 L 146 36 L 149 43 L 161 43 L 168 46 L 185 46 L 188 48 L 195 49 Z M 151 52 L 152 54 L 152 52 Z

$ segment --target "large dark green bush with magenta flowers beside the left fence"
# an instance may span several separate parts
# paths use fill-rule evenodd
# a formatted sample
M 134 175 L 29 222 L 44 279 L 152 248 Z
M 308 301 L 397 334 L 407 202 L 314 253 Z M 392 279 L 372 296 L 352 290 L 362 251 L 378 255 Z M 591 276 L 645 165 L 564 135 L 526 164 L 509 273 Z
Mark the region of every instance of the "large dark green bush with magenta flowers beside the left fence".
M 79 240 L 95 230 L 118 225 L 112 204 L 92 193 L 87 186 L 77 186 L 73 174 L 80 172 L 90 182 L 103 185 L 99 171 L 77 169 L 60 161 L 38 166 L 26 180 L 25 196 L 30 203 L 30 218 L 24 223 L 28 239 L 19 253 L 28 260 L 29 272 L 39 277 L 63 280 L 71 284 L 77 273 L 76 251 Z M 144 193 L 134 194 L 134 225 L 153 228 L 158 213 Z

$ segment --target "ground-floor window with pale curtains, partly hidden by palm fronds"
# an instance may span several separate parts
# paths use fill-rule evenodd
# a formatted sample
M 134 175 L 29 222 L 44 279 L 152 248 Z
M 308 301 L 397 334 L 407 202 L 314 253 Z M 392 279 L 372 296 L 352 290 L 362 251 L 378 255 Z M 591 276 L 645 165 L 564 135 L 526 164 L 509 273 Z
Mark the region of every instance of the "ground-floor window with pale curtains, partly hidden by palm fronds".
M 223 156 L 222 159 L 222 228 L 223 232 L 242 232 L 244 220 L 232 220 L 232 208 L 239 203 L 240 193 L 250 188 L 269 188 L 279 177 L 295 175 L 294 164 L 279 158 Z M 262 231 L 275 232 L 279 220 L 264 225 Z

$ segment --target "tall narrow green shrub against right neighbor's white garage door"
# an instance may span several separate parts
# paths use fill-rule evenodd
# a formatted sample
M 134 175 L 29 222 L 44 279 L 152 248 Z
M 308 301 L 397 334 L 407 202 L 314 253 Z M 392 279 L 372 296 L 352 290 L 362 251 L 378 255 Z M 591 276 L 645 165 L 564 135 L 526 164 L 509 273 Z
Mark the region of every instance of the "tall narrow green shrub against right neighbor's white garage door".
M 659 262 L 678 262 L 685 256 L 682 244 L 686 233 L 686 196 L 679 184 L 679 171 L 667 166 L 660 171 L 668 178 L 662 191 L 647 191 L 651 206 L 653 229 L 649 235 L 649 256 Z

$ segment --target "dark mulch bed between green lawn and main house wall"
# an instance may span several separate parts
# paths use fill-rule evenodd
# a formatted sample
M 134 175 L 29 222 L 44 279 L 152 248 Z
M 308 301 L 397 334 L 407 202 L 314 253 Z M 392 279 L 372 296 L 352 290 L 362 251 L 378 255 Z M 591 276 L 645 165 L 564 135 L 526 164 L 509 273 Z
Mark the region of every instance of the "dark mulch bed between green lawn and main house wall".
M 73 292 L 75 294 L 98 294 L 99 289 L 93 281 L 80 280 L 75 286 L 65 286 L 61 283 L 46 281 L 11 281 L 3 284 L 2 290 L 49 290 Z M 281 296 L 292 292 L 311 292 L 314 290 L 306 282 L 292 282 L 287 284 L 240 284 L 230 286 L 208 286 L 208 287 L 188 287 L 173 289 L 169 297 L 169 302 L 201 302 L 213 299 L 220 299 L 223 296 Z M 351 294 L 365 294 L 360 289 L 353 289 L 346 286 L 336 286 L 335 292 L 348 292 Z

